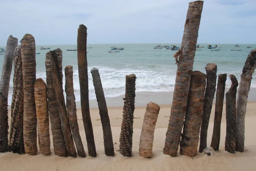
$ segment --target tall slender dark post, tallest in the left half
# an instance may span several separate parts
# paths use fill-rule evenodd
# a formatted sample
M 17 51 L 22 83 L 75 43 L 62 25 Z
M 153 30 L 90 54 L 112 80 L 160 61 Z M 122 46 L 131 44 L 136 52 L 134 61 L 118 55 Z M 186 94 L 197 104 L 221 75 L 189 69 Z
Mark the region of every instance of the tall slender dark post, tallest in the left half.
M 86 135 L 88 154 L 91 157 L 97 157 L 94 136 L 93 136 L 93 125 L 90 119 L 86 43 L 87 43 L 87 28 L 86 26 L 81 24 L 79 25 L 78 35 L 77 35 L 77 58 L 78 58 L 79 83 L 80 83 L 81 112 L 82 112 L 82 118 L 84 122 L 84 131 Z

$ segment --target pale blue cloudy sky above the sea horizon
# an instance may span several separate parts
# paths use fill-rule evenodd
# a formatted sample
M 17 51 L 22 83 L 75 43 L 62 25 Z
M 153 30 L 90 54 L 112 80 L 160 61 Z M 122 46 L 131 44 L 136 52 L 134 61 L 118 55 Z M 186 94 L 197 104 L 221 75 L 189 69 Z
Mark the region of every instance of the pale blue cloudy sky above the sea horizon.
M 191 0 L 0 0 L 0 46 L 26 34 L 36 45 L 181 43 Z M 205 0 L 198 43 L 256 44 L 256 0 Z

